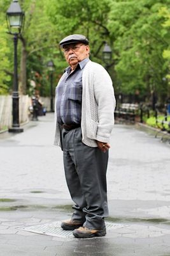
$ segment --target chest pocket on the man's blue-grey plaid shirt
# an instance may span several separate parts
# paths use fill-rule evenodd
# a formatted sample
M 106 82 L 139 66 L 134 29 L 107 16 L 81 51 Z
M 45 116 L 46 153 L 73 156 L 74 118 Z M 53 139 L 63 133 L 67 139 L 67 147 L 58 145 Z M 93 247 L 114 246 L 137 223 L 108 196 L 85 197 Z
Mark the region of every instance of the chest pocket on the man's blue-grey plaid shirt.
M 72 82 L 69 86 L 68 99 L 80 102 L 82 100 L 82 86 L 79 82 Z

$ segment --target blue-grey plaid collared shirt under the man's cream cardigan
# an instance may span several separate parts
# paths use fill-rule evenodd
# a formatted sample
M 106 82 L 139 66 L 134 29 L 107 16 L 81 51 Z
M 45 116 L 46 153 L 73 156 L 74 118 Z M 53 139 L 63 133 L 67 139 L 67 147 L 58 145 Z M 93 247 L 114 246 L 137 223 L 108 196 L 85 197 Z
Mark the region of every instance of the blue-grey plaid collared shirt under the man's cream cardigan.
M 56 88 L 59 124 L 81 124 L 82 74 L 88 61 L 86 58 L 79 62 L 73 72 L 67 67 Z

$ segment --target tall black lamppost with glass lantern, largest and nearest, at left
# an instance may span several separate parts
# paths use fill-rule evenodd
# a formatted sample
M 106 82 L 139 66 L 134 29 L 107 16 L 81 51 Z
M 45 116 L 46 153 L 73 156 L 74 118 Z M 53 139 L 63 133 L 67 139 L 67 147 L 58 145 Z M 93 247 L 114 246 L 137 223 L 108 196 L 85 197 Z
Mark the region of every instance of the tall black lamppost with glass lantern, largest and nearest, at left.
M 19 124 L 19 96 L 18 96 L 18 71 L 17 71 L 17 44 L 18 35 L 20 35 L 24 24 L 24 12 L 20 8 L 18 0 L 13 0 L 6 12 L 6 21 L 8 30 L 13 35 L 14 42 L 14 72 L 13 72 L 13 95 L 12 95 L 12 113 L 13 124 L 9 132 L 23 132 Z

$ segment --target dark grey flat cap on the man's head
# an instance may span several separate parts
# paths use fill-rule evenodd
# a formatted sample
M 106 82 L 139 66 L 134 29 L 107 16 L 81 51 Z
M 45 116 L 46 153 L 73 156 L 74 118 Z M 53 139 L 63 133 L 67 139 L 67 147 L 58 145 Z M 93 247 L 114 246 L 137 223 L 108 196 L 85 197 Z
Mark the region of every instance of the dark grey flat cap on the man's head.
M 89 45 L 89 40 L 83 35 L 66 36 L 64 39 L 62 39 L 60 41 L 59 45 L 63 47 L 66 44 L 74 44 L 74 43 L 79 43 L 79 42 Z

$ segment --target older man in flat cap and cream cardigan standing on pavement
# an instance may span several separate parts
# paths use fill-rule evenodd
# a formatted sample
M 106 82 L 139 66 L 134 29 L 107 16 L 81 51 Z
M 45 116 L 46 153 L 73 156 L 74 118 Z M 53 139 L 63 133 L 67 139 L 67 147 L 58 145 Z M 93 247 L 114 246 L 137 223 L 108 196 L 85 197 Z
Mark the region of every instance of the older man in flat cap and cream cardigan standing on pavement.
M 63 150 L 64 170 L 74 202 L 64 230 L 75 237 L 105 236 L 108 216 L 106 170 L 115 96 L 111 78 L 89 60 L 89 40 L 69 35 L 60 41 L 69 67 L 55 96 L 55 145 Z

